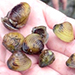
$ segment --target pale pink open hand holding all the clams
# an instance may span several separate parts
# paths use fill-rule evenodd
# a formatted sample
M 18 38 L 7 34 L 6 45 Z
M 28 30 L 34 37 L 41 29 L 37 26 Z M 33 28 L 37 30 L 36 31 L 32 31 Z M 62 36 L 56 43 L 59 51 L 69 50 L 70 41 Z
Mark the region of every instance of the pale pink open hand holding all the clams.
M 51 65 L 40 68 L 37 64 L 38 56 L 28 55 L 32 60 L 32 66 L 29 70 L 24 72 L 10 70 L 6 65 L 6 62 L 11 53 L 2 45 L 3 36 L 10 31 L 3 26 L 2 22 L 0 22 L 0 75 L 75 75 L 75 70 L 70 69 L 65 65 L 68 57 L 75 52 L 75 40 L 70 43 L 65 43 L 59 40 L 52 31 L 55 24 L 68 21 L 73 25 L 75 32 L 75 20 L 45 5 L 39 0 L 1 0 L 0 18 L 4 17 L 16 4 L 24 1 L 31 6 L 31 13 L 26 26 L 18 30 L 18 32 L 27 36 L 31 33 L 31 29 L 34 26 L 45 25 L 49 33 L 49 40 L 46 48 L 49 48 L 54 52 L 56 59 Z

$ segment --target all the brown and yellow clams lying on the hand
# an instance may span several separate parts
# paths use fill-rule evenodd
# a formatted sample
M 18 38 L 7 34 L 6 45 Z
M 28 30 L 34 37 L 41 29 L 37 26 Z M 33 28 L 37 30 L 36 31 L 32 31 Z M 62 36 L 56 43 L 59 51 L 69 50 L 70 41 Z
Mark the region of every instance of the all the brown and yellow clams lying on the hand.
M 22 2 L 12 8 L 4 18 L 1 18 L 3 25 L 9 30 L 18 30 L 26 24 L 30 6 L 26 2 Z M 56 24 L 53 27 L 55 35 L 64 42 L 74 40 L 73 28 L 69 22 Z M 36 26 L 32 28 L 31 34 L 24 37 L 18 32 L 10 32 L 4 35 L 2 44 L 9 50 L 12 55 L 7 60 L 7 66 L 14 71 L 25 71 L 32 65 L 31 59 L 27 54 L 39 55 L 39 66 L 46 67 L 55 60 L 54 53 L 49 49 L 44 49 L 44 45 L 48 42 L 49 34 L 45 26 Z M 66 65 L 75 68 L 75 54 L 67 61 Z

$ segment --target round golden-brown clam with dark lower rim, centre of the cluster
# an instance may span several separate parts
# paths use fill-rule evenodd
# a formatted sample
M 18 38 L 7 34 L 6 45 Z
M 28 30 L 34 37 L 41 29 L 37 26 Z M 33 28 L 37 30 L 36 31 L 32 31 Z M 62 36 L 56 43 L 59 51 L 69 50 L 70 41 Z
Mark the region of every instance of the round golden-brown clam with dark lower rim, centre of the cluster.
M 44 48 L 43 40 L 39 34 L 29 34 L 24 39 L 22 49 L 27 54 L 38 54 Z

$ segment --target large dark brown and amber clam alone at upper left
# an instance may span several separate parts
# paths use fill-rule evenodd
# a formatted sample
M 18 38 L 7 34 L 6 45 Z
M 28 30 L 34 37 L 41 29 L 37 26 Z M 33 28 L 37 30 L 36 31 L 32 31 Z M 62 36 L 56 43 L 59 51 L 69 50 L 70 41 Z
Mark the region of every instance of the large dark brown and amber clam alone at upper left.
M 21 2 L 13 7 L 4 18 L 1 18 L 3 25 L 9 30 L 18 30 L 25 26 L 30 14 L 30 6 Z

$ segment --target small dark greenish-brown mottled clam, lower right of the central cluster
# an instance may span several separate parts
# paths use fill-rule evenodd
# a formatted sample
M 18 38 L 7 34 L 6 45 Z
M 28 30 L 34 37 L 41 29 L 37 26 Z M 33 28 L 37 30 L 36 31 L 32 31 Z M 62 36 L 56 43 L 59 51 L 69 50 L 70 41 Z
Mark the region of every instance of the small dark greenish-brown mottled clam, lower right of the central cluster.
M 46 67 L 52 64 L 55 60 L 54 53 L 49 50 L 43 50 L 42 53 L 39 55 L 39 66 L 40 67 Z

